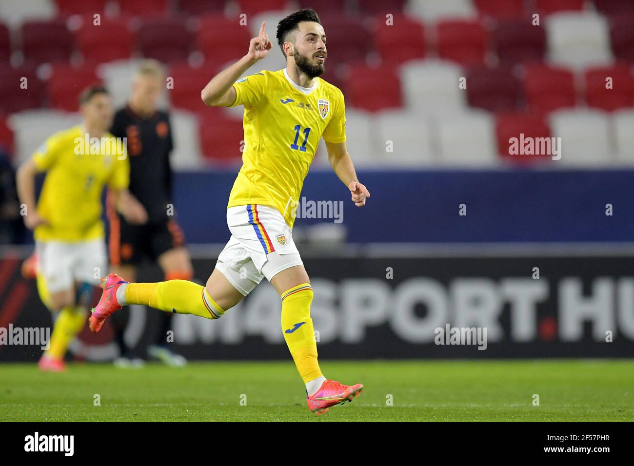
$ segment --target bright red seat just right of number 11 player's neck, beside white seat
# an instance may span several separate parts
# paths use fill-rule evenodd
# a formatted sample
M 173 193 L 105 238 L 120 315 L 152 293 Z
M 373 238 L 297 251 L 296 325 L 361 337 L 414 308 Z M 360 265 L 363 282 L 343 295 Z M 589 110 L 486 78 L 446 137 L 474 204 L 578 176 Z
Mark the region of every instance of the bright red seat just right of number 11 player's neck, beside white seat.
M 348 105 L 368 112 L 403 106 L 401 82 L 393 67 L 350 67 L 346 91 Z

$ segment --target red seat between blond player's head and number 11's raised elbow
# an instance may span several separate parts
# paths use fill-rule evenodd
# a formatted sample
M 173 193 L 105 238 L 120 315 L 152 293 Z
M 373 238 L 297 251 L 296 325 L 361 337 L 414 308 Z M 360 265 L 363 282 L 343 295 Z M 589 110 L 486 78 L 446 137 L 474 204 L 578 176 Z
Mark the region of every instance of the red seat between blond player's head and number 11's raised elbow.
M 200 91 L 218 72 L 216 66 L 191 68 L 187 63 L 172 63 L 168 75 L 174 79 L 174 88 L 168 89 L 172 107 L 191 112 L 200 112 L 205 104 L 200 100 Z

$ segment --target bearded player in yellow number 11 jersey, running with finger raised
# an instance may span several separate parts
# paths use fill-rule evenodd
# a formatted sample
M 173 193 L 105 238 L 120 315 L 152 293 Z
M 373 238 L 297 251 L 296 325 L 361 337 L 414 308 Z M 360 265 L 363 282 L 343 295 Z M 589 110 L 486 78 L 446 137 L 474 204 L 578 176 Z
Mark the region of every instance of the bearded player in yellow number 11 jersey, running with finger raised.
M 344 96 L 319 78 L 327 58 L 326 36 L 313 10 L 297 11 L 278 23 L 285 69 L 236 81 L 272 48 L 265 26 L 251 39 L 247 55 L 201 93 L 209 106 L 245 108 L 243 165 L 227 206 L 231 238 L 207 286 L 183 280 L 126 283 L 110 275 L 91 330 L 98 332 L 105 318 L 126 304 L 217 319 L 266 277 L 281 296 L 283 336 L 306 384 L 309 409 L 321 414 L 351 401 L 363 387 L 327 380 L 321 373 L 310 318 L 313 289 L 291 236 L 302 184 L 322 136 L 328 160 L 354 205 L 363 207 L 370 193 L 359 183 L 346 149 Z

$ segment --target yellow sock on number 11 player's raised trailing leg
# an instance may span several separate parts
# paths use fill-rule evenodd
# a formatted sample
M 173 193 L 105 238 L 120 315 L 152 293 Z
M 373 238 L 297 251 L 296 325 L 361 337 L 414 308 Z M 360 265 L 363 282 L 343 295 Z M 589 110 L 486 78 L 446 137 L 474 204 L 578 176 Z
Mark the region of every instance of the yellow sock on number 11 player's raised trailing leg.
M 207 319 L 217 319 L 225 313 L 205 287 L 188 280 L 129 283 L 126 285 L 126 304 L 144 304 L 161 311 L 194 314 Z

